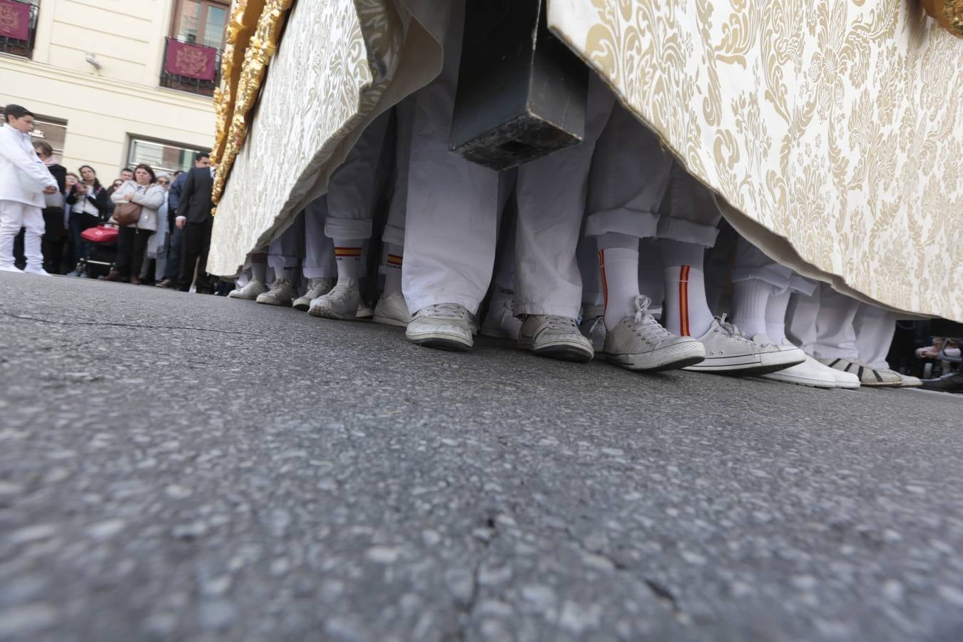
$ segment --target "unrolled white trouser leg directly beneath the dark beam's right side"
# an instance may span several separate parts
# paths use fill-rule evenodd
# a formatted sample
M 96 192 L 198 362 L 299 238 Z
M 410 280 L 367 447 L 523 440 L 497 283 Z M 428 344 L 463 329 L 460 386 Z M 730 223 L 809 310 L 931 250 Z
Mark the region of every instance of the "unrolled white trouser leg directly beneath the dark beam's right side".
M 579 314 L 582 277 L 576 248 L 586 212 L 588 172 L 614 102 L 612 91 L 591 74 L 583 141 L 519 167 L 516 314 L 570 319 Z

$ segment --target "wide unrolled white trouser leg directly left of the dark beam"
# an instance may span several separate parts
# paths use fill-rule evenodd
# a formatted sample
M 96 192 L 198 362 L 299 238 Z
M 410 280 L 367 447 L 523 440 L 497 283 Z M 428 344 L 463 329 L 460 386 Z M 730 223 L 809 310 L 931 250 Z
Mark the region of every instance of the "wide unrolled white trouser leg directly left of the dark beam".
M 415 312 L 457 303 L 478 312 L 498 234 L 498 172 L 449 150 L 464 3 L 453 3 L 441 75 L 416 96 L 408 165 L 403 293 Z

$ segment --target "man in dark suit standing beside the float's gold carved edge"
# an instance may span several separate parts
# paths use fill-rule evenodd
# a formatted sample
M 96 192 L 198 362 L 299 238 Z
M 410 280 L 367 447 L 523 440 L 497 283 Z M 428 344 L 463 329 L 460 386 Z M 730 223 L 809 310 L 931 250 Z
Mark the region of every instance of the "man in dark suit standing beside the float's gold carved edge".
M 181 268 L 178 289 L 188 292 L 197 268 L 197 293 L 210 295 L 214 292 L 207 275 L 207 253 L 211 247 L 211 228 L 214 218 L 211 210 L 214 201 L 214 167 L 194 167 L 188 172 L 177 203 L 176 225 L 183 231 L 181 245 Z

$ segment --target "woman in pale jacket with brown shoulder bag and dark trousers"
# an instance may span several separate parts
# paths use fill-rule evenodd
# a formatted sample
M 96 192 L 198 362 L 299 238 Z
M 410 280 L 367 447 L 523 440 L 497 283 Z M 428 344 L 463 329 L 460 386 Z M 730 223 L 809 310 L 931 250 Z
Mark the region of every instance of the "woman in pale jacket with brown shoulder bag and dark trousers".
M 115 203 L 112 220 L 120 229 L 117 268 L 104 277 L 105 281 L 140 283 L 143 255 L 150 235 L 157 230 L 157 210 L 164 204 L 164 195 L 164 188 L 156 183 L 154 170 L 144 164 L 134 167 L 134 180 L 126 181 L 111 194 Z

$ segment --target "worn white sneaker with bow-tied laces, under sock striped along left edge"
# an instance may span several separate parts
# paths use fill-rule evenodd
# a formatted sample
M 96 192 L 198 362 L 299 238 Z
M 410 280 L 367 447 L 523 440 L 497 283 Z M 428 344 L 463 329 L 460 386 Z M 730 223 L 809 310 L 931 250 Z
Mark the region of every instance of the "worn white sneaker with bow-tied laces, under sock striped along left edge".
M 605 358 L 634 371 L 663 371 L 700 363 L 706 350 L 691 337 L 677 337 L 652 316 L 652 299 L 636 296 L 636 314 L 618 321 L 605 335 Z

